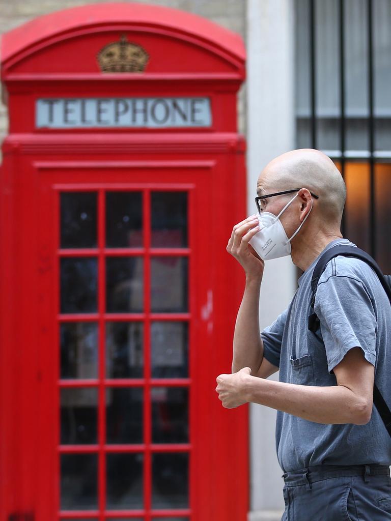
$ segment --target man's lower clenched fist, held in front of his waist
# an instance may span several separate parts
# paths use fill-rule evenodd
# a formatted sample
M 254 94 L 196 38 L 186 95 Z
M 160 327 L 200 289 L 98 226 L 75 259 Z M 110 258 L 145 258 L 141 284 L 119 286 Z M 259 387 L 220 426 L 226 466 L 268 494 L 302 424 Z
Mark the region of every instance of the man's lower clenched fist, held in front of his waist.
M 231 375 L 218 375 L 216 391 L 218 392 L 218 399 L 223 402 L 223 407 L 233 409 L 248 402 L 249 375 L 251 375 L 250 367 L 243 367 L 243 369 Z

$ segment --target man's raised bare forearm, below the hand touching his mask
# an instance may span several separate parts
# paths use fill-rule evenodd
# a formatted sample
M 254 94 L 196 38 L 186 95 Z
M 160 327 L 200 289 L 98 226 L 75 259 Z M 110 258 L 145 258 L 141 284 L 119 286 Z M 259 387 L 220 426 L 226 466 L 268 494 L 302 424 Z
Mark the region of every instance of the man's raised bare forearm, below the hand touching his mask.
M 259 296 L 262 278 L 247 278 L 242 302 L 236 317 L 232 373 L 250 367 L 252 374 L 263 358 L 263 343 L 259 329 Z

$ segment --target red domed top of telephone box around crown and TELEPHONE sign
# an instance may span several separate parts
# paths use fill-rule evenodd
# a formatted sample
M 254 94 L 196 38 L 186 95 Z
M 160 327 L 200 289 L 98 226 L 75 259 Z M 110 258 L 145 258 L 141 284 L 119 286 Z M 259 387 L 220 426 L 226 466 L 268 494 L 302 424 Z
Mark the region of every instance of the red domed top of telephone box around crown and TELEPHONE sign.
M 148 52 L 144 71 L 102 73 L 97 54 L 122 34 Z M 196 131 L 236 131 L 236 93 L 245 79 L 245 48 L 239 35 L 199 16 L 132 3 L 87 5 L 36 18 L 5 33 L 1 43 L 10 133 L 46 132 L 35 128 L 39 97 L 108 95 L 210 97 L 212 127 Z M 133 131 L 112 129 L 114 134 Z

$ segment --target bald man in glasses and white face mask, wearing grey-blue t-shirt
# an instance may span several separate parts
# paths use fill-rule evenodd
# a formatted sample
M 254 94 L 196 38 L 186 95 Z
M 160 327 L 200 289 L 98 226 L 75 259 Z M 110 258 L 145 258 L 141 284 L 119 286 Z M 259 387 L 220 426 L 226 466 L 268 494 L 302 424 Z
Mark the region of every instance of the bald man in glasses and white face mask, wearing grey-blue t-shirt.
M 391 519 L 391 438 L 373 407 L 375 367 L 391 404 L 391 306 L 368 264 L 344 256 L 328 262 L 314 306 L 320 328 L 308 329 L 317 259 L 334 245 L 356 246 L 340 232 L 344 180 L 325 154 L 301 149 L 273 159 L 256 189 L 259 213 L 235 225 L 227 244 L 246 287 L 232 374 L 216 378 L 218 398 L 227 408 L 253 402 L 277 410 L 282 521 Z M 299 287 L 260 332 L 264 263 L 289 254 L 303 270 Z M 279 381 L 267 380 L 277 370 Z

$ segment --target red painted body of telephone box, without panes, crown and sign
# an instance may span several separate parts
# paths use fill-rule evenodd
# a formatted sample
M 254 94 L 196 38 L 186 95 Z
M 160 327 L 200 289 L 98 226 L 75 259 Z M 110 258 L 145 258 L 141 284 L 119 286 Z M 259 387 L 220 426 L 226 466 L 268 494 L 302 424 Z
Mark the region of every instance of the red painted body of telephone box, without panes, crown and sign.
M 150 68 L 140 75 L 101 75 L 89 49 L 99 50 L 122 31 L 158 59 L 151 59 Z M 9 521 L 10 515 L 30 514 L 34 521 L 59 519 L 59 453 L 78 451 L 99 453 L 99 512 L 82 514 L 103 521 L 107 517 L 103 510 L 104 454 L 145 451 L 143 479 L 148 499 L 151 452 L 166 450 L 191 453 L 190 521 L 245 521 L 249 510 L 248 406 L 226 410 L 215 392 L 216 376 L 230 373 L 243 282 L 240 267 L 225 250 L 233 224 L 246 215 L 245 141 L 236 125 L 236 94 L 245 77 L 245 52 L 239 36 L 175 9 L 98 4 L 59 11 L 10 31 L 3 35 L 1 52 L 10 133 L 3 143 L 0 169 L 0 521 Z M 56 53 L 64 58 L 53 60 Z M 170 59 L 172 53 L 178 53 L 181 60 Z M 108 93 L 125 97 L 129 92 L 136 97 L 208 96 L 213 125 L 180 132 L 34 128 L 36 98 Z M 147 194 L 152 189 L 184 188 L 190 192 L 189 246 L 154 249 L 153 253 L 189 258 L 189 312 L 149 313 Z M 98 247 L 59 250 L 58 193 L 91 189 L 100 193 Z M 103 194 L 107 189 L 144 192 L 145 247 L 104 249 Z M 99 258 L 97 314 L 59 314 L 58 259 L 73 254 Z M 145 313 L 105 314 L 106 254 L 145 257 Z M 152 319 L 188 320 L 189 378 L 150 378 L 146 349 L 150 339 L 145 327 L 143 379 L 104 379 L 101 334 L 99 378 L 59 380 L 60 322 L 94 320 L 102 332 L 107 319 L 125 318 L 145 325 Z M 58 444 L 58 390 L 75 384 L 99 388 L 100 438 L 96 445 Z M 144 443 L 104 445 L 107 385 L 143 385 L 146 390 L 151 385 L 189 386 L 189 443 L 150 443 L 148 394 L 143 411 Z M 143 518 L 151 521 L 151 505 L 147 501 L 144 506 Z M 110 517 L 122 514 L 125 512 L 116 511 Z M 77 515 L 72 511 L 61 518 Z M 128 517 L 136 515 L 132 511 Z

